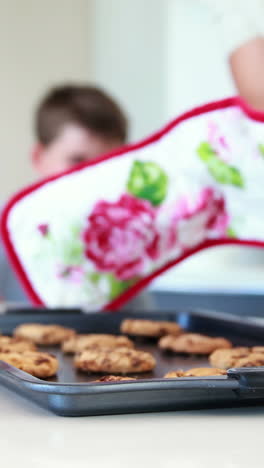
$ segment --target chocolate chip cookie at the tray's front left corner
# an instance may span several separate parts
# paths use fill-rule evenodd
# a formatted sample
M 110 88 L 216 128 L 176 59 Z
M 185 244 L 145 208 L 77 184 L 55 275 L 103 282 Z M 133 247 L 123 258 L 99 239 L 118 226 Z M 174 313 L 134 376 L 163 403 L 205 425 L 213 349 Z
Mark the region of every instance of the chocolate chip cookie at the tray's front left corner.
M 25 351 L 24 353 L 10 351 L 7 353 L 0 353 L 0 361 L 11 364 L 11 366 L 17 367 L 41 379 L 53 377 L 56 375 L 59 367 L 56 357 L 49 353 L 41 353 L 38 351 Z

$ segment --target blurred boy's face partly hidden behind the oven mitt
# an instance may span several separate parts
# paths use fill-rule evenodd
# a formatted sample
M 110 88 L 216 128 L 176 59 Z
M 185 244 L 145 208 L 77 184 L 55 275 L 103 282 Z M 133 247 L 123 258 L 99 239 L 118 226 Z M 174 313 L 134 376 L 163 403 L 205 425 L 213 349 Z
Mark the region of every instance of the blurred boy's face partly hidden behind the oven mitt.
M 32 163 L 40 177 L 71 169 L 122 146 L 119 140 L 107 140 L 75 124 L 66 125 L 55 140 L 36 144 Z

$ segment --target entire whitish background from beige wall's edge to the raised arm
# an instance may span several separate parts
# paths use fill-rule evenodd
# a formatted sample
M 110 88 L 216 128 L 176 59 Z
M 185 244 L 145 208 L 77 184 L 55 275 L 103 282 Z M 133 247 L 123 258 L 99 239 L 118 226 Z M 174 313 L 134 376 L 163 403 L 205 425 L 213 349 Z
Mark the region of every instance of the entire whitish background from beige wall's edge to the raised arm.
M 235 93 L 222 38 L 199 0 L 92 0 L 92 78 L 128 110 L 131 138 Z

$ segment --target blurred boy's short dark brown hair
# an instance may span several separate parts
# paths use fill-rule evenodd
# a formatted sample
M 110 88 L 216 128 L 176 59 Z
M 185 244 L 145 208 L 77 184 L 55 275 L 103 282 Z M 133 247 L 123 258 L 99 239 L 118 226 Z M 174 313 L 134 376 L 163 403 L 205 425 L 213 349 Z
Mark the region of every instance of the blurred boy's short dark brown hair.
M 58 86 L 44 96 L 35 116 L 38 141 L 49 144 L 68 123 L 103 138 L 122 143 L 127 139 L 128 122 L 122 109 L 105 92 L 92 86 Z

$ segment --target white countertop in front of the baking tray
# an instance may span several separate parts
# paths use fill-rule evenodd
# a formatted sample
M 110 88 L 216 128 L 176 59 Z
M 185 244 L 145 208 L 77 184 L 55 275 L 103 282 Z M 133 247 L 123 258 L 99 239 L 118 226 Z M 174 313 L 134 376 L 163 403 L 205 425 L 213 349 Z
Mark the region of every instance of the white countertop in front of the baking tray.
M 263 468 L 264 407 L 62 418 L 0 388 L 9 468 Z

